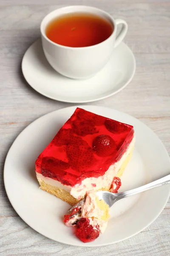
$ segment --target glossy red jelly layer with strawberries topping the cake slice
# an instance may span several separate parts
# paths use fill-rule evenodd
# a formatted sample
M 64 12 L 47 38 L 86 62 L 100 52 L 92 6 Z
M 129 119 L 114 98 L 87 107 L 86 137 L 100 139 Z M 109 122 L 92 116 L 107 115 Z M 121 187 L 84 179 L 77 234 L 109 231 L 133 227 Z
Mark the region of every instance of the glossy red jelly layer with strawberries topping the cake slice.
M 133 139 L 133 126 L 77 108 L 36 160 L 36 172 L 74 186 L 105 174 Z

